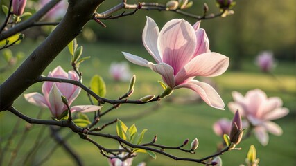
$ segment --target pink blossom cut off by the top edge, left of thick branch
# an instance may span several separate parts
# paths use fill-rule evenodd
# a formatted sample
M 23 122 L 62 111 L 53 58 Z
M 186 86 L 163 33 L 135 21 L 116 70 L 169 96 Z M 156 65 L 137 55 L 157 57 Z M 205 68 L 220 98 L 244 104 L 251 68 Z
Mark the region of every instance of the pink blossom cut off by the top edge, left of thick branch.
M 41 0 L 40 1 L 40 8 L 42 8 L 46 3 L 49 3 L 51 0 Z M 46 13 L 45 19 L 48 20 L 56 20 L 64 17 L 64 14 L 67 11 L 68 3 L 66 0 L 60 1 L 56 4 L 49 12 Z

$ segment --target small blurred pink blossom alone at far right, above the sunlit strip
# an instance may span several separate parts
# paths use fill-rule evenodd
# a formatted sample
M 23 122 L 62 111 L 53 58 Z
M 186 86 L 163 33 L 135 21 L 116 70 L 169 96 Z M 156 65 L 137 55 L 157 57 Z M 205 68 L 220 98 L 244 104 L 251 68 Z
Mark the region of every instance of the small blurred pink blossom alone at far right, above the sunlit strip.
M 269 72 L 275 66 L 275 59 L 270 51 L 263 51 L 256 57 L 256 64 L 259 66 L 261 71 Z

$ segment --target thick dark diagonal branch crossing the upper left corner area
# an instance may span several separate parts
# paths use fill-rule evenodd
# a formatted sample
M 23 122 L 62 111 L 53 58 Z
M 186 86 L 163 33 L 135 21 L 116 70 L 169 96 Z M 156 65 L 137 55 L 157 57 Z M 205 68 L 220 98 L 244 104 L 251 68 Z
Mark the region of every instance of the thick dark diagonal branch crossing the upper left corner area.
M 45 68 L 55 59 L 92 18 L 104 0 L 70 0 L 66 15 L 40 46 L 24 61 L 17 71 L 0 86 L 0 111 L 8 109 L 16 98 L 34 84 Z M 25 72 L 26 71 L 26 72 Z

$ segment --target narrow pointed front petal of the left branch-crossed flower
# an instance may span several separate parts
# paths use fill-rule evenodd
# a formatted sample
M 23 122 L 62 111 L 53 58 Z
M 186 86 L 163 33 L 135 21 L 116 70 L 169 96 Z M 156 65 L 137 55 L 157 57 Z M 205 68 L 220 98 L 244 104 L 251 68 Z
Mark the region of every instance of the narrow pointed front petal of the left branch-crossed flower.
M 49 109 L 55 118 L 59 118 L 62 112 L 66 109 L 65 104 L 62 102 L 62 93 L 57 88 L 55 84 L 53 84 L 53 88 L 49 92 L 49 103 L 51 104 Z

